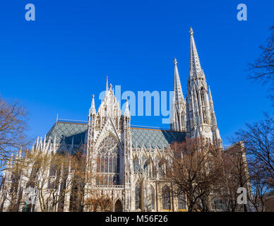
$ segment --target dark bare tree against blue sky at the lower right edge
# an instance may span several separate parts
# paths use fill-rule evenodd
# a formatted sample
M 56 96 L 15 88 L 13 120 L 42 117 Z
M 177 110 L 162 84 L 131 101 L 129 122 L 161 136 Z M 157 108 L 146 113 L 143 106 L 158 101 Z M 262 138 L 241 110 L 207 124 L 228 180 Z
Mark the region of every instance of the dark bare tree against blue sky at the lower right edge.
M 274 189 L 274 121 L 268 114 L 265 116 L 259 122 L 246 124 L 247 128 L 239 130 L 234 138 L 244 141 L 252 189 L 249 201 L 256 211 L 265 210 L 266 196 Z

